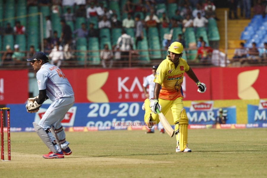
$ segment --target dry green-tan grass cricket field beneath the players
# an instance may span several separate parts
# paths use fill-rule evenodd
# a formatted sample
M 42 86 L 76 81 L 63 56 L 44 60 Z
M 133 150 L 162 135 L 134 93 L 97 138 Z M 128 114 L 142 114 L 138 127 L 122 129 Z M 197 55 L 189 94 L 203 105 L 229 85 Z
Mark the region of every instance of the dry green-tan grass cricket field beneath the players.
M 73 153 L 64 159 L 44 159 L 34 132 L 11 133 L 0 177 L 267 177 L 267 129 L 189 130 L 191 153 L 176 153 L 166 133 L 144 132 L 66 132 Z

